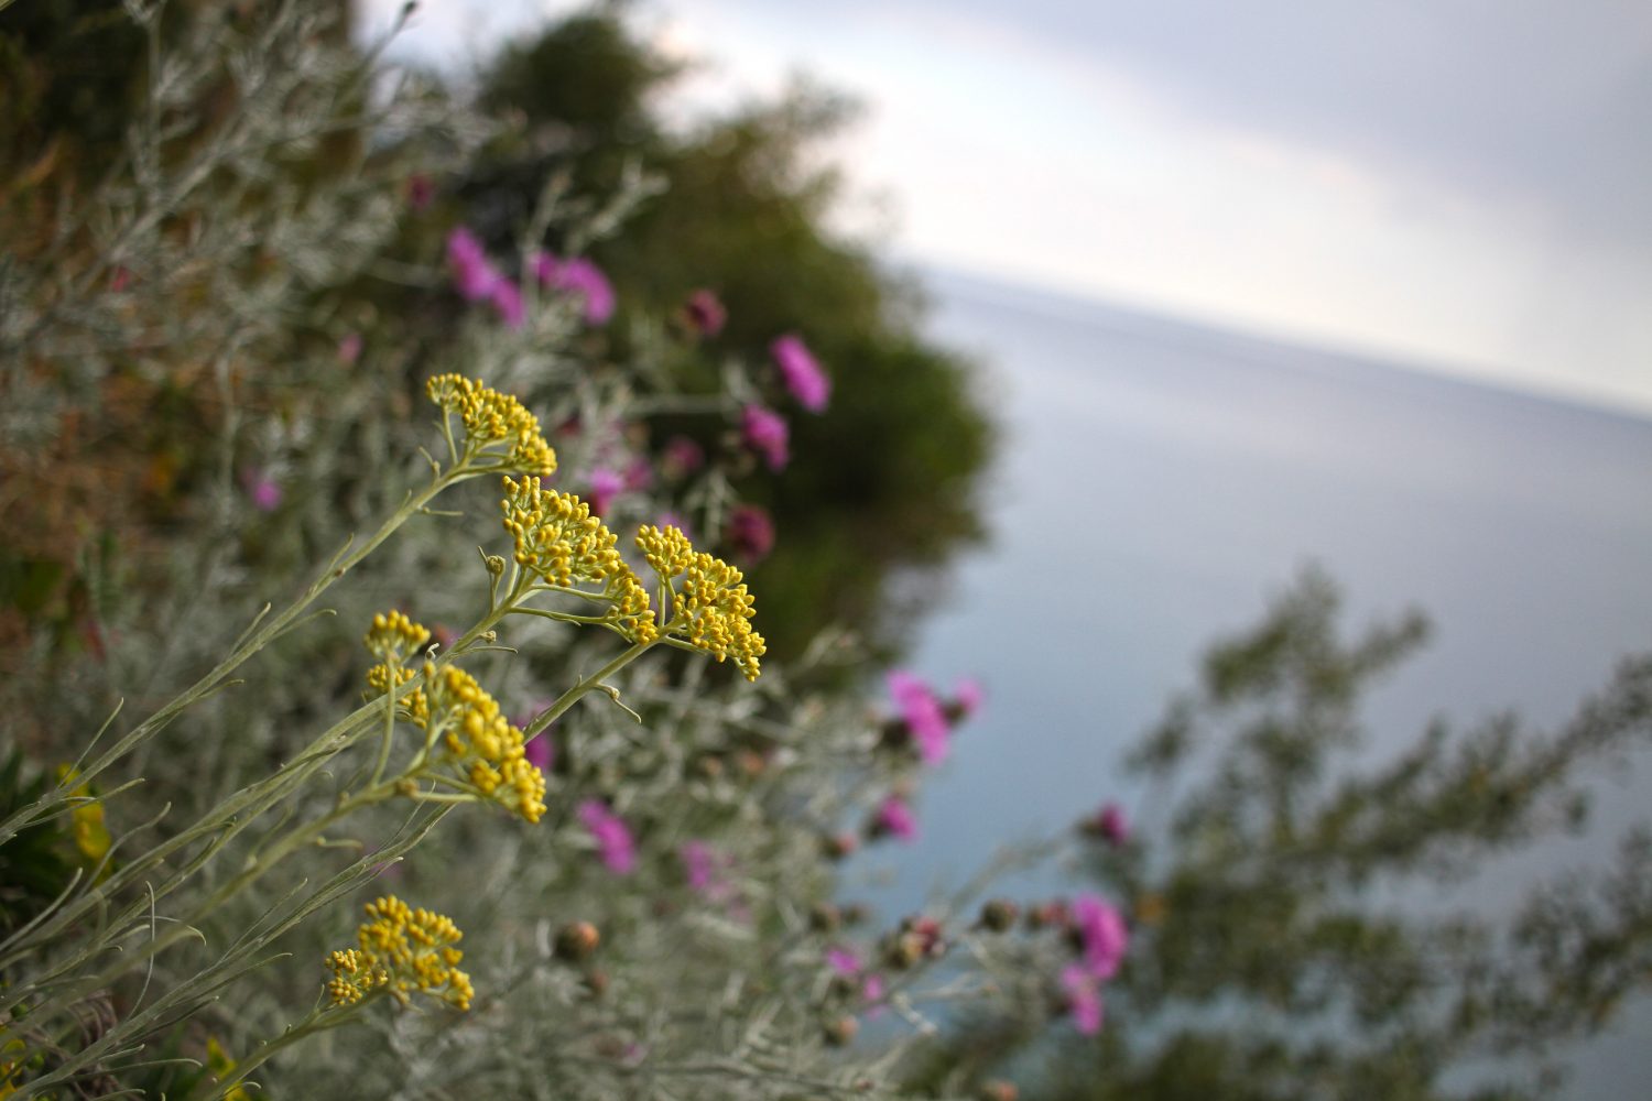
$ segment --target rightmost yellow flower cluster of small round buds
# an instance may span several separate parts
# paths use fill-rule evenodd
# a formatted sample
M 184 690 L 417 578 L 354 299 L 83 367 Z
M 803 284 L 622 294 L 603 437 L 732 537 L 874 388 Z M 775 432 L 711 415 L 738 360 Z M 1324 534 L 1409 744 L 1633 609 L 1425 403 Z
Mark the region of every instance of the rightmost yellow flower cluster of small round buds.
M 682 578 L 672 634 L 681 631 L 691 645 L 719 662 L 732 657 L 747 680 L 757 680 L 758 659 L 767 647 L 763 636 L 752 629 L 757 601 L 743 574 L 720 558 L 695 551 L 677 528 L 644 527 L 636 533 L 636 546 L 666 584 Z

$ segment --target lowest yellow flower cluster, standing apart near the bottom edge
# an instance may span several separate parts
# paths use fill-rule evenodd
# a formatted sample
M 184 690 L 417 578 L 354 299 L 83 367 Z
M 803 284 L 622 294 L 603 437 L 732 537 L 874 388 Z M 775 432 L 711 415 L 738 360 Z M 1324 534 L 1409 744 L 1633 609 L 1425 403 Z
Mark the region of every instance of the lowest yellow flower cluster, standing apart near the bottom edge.
M 332 971 L 327 994 L 334 1005 L 355 1005 L 383 987 L 403 1005 L 413 994 L 430 994 L 456 1009 L 471 1009 L 476 990 L 458 969 L 464 952 L 454 947 L 464 934 L 451 919 L 413 910 L 395 895 L 368 903 L 367 918 L 357 928 L 362 947 L 327 957 Z

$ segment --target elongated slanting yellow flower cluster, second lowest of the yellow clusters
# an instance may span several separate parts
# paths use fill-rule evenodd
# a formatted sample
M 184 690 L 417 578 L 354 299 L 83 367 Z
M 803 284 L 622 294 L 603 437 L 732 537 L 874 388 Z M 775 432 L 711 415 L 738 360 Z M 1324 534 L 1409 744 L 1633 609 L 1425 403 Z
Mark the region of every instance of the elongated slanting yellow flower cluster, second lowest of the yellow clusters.
M 499 702 L 463 669 L 426 665 L 431 725 L 461 777 L 529 822 L 545 814 L 545 774 L 527 759 L 522 731 L 506 721 Z

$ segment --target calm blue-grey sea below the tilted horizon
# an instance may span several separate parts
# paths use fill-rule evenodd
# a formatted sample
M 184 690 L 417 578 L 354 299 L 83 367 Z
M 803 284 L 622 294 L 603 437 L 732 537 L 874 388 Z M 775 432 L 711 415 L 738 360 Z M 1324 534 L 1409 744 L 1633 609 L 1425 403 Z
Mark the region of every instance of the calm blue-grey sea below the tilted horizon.
M 1350 627 L 1409 604 L 1434 622 L 1370 700 L 1373 753 L 1441 713 L 1561 721 L 1616 659 L 1652 649 L 1652 421 L 957 274 L 927 282 L 930 335 L 981 363 L 1006 439 L 993 538 L 953 571 L 914 655 L 943 685 L 980 675 L 988 710 L 923 789 L 920 840 L 881 847 L 887 911 L 1104 797 L 1151 824 L 1120 753 L 1213 637 L 1256 622 L 1305 561 L 1341 583 Z M 1604 782 L 1596 834 L 1488 877 L 1475 901 L 1607 855 L 1649 794 L 1652 763 Z M 1578 1096 L 1652 1075 L 1629 1033 L 1589 1048 Z

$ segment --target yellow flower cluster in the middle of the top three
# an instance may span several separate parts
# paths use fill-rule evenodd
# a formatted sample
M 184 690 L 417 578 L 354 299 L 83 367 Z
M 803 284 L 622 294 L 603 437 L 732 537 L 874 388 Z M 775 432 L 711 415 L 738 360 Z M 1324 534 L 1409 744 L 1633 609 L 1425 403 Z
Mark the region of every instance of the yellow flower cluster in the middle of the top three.
M 515 560 L 548 584 L 601 584 L 608 621 L 631 642 L 653 642 L 659 624 L 648 589 L 615 550 L 615 533 L 573 494 L 545 489 L 537 479 L 506 479 L 504 527 L 515 540 Z

